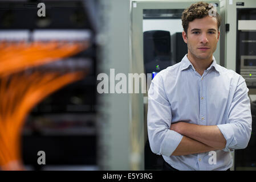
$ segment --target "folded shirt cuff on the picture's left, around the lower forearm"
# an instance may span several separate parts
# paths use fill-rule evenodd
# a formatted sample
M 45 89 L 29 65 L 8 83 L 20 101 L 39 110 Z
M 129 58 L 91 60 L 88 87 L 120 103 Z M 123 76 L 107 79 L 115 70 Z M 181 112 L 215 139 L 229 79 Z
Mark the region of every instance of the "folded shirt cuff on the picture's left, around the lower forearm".
M 173 130 L 167 130 L 160 147 L 160 154 L 170 156 L 180 144 L 183 135 Z

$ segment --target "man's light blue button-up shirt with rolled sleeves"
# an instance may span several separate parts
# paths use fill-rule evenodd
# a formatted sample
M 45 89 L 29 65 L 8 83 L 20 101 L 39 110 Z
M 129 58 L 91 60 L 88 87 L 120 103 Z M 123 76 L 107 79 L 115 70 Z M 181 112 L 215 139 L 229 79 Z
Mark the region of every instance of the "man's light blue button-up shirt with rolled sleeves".
M 233 165 L 231 151 L 245 148 L 251 136 L 249 89 L 245 79 L 213 63 L 201 76 L 185 55 L 180 63 L 159 72 L 148 92 L 148 138 L 151 150 L 179 170 L 226 170 Z M 226 139 L 216 150 L 216 163 L 209 152 L 172 156 L 182 135 L 170 130 L 177 121 L 217 125 Z

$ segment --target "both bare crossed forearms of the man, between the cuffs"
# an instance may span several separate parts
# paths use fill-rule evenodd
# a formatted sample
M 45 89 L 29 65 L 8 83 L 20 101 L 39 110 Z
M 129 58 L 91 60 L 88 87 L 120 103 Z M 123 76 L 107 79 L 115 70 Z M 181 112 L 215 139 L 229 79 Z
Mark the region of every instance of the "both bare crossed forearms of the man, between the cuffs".
M 183 135 L 172 155 L 188 155 L 212 150 L 222 150 L 226 139 L 216 125 L 204 126 L 186 122 L 172 123 L 170 130 Z

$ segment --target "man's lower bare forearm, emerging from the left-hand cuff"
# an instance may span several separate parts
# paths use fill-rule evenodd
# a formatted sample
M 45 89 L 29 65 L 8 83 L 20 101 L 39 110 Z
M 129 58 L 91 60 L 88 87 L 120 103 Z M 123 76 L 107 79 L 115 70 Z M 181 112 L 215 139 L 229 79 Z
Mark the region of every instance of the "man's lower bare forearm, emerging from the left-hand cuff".
M 180 144 L 178 144 L 176 150 L 174 150 L 172 155 L 177 156 L 177 155 L 198 154 L 198 153 L 208 152 L 212 150 L 217 150 L 217 148 L 207 146 L 206 144 L 198 142 L 197 140 L 183 136 Z

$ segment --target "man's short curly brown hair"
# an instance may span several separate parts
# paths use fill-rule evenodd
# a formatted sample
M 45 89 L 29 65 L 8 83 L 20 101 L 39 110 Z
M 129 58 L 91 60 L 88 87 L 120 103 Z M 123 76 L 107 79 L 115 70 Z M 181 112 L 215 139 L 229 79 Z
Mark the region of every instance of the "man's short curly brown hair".
M 212 7 L 209 7 L 209 3 L 197 2 L 197 3 L 193 3 L 191 6 L 188 7 L 188 9 L 185 9 L 183 11 L 181 20 L 182 20 L 182 27 L 186 32 L 186 34 L 188 32 L 189 22 L 192 22 L 194 19 L 200 19 L 200 18 L 205 18 L 206 16 L 209 16 L 210 9 L 212 9 Z M 216 12 L 216 18 L 217 18 L 217 26 L 219 30 L 221 25 L 221 16 L 217 12 Z

